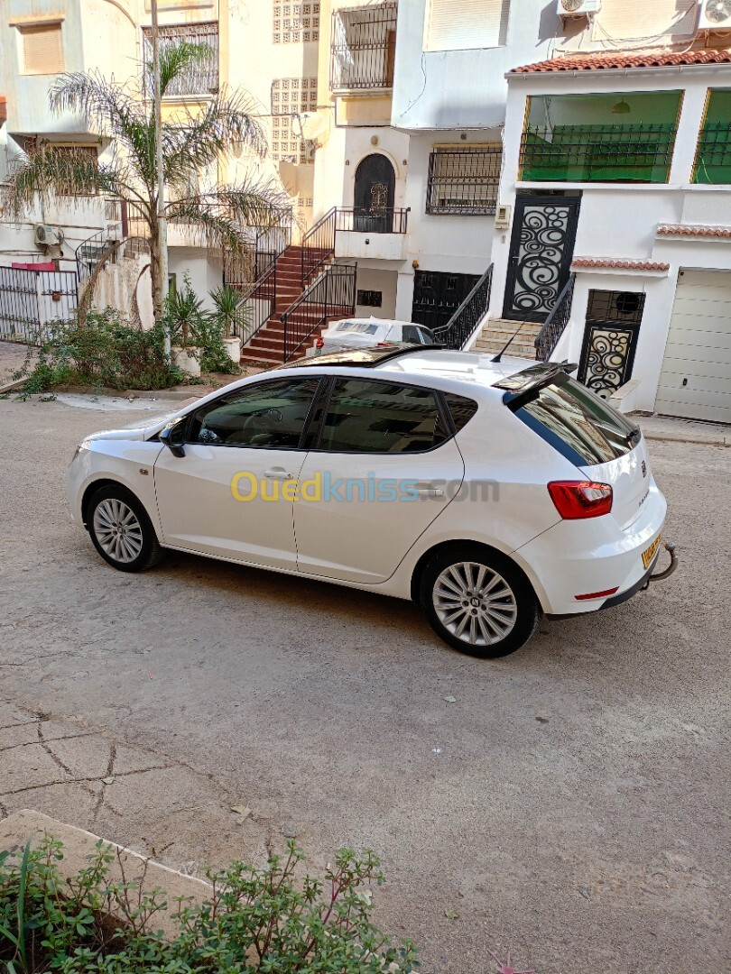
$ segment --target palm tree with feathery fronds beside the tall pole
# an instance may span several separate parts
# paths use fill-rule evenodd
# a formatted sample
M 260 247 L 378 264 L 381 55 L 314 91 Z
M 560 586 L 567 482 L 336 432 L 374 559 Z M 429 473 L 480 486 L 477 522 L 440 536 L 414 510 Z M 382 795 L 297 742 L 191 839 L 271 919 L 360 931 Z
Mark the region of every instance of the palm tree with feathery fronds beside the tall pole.
M 163 96 L 196 61 L 210 56 L 205 45 L 181 42 L 160 51 L 160 90 Z M 29 156 L 10 176 L 3 191 L 11 215 L 18 218 L 36 194 L 80 196 L 103 193 L 131 206 L 146 224 L 150 244 L 152 303 L 155 318 L 163 315 L 164 288 L 160 280 L 160 233 L 157 216 L 155 118 L 152 78 L 126 84 L 108 81 L 97 72 L 61 75 L 49 94 L 52 111 L 72 112 L 87 131 L 108 138 L 112 159 L 97 164 L 82 152 L 48 146 Z M 242 147 L 263 156 L 266 139 L 253 114 L 253 102 L 241 91 L 221 91 L 200 111 L 180 109 L 174 122 L 163 123 L 166 206 L 169 220 L 194 228 L 202 243 L 226 253 L 241 253 L 247 245 L 247 226 L 277 223 L 290 206 L 289 197 L 255 167 L 236 185 L 217 184 L 201 192 L 198 173 L 217 165 Z

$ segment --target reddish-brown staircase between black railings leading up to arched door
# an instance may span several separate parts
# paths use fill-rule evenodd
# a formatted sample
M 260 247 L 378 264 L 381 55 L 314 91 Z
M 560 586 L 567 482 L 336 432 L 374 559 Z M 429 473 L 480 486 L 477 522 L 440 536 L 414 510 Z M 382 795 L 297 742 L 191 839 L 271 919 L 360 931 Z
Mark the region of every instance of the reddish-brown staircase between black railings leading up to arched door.
M 302 293 L 302 248 L 289 246 L 276 262 L 275 279 L 276 297 L 274 314 L 241 350 L 241 363 L 263 362 L 267 365 L 281 365 L 285 356 L 285 324 L 282 315 Z M 256 291 L 251 294 L 256 298 Z M 320 305 L 310 306 L 306 312 L 300 313 L 300 318 L 312 318 L 313 325 L 322 318 L 323 308 Z M 322 327 L 315 328 L 312 335 L 297 352 L 297 357 L 304 356 L 308 348 L 313 346 L 320 336 Z

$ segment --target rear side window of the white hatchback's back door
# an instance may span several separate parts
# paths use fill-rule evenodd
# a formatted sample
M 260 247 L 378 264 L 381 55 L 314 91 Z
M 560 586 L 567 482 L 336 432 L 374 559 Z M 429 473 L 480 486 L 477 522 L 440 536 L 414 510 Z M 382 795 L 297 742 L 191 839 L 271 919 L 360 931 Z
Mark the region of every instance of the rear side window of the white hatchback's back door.
M 420 453 L 448 436 L 430 390 L 336 379 L 320 448 L 331 453 Z

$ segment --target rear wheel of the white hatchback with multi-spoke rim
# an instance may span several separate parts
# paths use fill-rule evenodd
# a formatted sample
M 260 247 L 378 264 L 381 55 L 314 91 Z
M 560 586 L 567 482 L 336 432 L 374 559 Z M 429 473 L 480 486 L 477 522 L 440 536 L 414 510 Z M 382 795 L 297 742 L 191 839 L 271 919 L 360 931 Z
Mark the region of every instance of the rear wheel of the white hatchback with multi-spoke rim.
M 510 558 L 481 544 L 442 548 L 422 572 L 419 601 L 437 635 L 469 656 L 509 656 L 538 624 L 529 581 Z

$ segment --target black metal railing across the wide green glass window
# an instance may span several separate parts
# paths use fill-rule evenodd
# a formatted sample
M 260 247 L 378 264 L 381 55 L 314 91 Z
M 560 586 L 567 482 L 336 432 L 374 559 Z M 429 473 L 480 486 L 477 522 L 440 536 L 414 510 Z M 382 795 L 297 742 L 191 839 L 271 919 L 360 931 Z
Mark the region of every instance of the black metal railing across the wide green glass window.
M 670 123 L 530 128 L 522 136 L 520 178 L 667 182 L 674 144 Z

